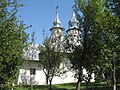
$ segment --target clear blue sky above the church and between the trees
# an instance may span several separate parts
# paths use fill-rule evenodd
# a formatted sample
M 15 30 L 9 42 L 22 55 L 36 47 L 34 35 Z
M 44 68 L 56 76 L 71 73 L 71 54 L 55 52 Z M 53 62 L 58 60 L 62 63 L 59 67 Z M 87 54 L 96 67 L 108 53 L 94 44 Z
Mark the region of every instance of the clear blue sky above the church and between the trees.
M 50 28 L 53 26 L 53 20 L 56 17 L 56 6 L 58 5 L 58 13 L 61 26 L 68 29 L 68 21 L 72 17 L 72 7 L 74 0 L 20 0 L 19 3 L 24 4 L 19 8 L 18 18 L 23 20 L 27 26 L 32 25 L 26 30 L 27 34 L 35 32 L 35 43 L 41 44 L 45 36 L 50 36 Z

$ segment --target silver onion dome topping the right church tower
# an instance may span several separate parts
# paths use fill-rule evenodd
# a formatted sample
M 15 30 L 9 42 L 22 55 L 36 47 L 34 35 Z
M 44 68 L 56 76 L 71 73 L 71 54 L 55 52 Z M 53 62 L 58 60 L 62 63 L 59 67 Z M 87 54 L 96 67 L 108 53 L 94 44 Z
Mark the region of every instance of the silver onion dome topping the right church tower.
M 69 21 L 69 28 L 78 28 L 78 23 L 79 23 L 79 21 L 77 20 L 76 14 L 73 11 L 72 12 L 72 18 Z

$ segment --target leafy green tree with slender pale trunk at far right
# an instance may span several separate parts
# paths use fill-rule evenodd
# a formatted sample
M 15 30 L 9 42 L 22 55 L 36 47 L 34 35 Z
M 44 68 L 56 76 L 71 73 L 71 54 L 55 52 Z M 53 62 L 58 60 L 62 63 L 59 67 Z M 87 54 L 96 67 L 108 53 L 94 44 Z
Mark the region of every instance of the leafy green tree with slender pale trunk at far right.
M 116 70 L 117 63 L 119 62 L 119 40 L 118 40 L 118 33 L 117 30 L 120 26 L 119 19 L 116 16 L 113 16 L 110 11 L 105 12 L 106 15 L 106 27 L 104 34 L 103 34 L 103 49 L 102 49 L 102 57 L 103 60 L 106 61 L 105 67 L 109 67 L 112 71 L 112 79 L 113 79 L 113 90 L 116 90 Z

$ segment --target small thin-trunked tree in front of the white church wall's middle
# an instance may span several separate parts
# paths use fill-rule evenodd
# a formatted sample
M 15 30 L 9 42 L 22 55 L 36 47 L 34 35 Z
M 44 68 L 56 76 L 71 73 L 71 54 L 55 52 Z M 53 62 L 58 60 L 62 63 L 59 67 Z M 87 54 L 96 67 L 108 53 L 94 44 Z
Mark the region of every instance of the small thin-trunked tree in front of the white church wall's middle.
M 64 65 L 61 64 L 64 59 L 64 52 L 60 48 L 51 47 L 50 39 L 46 39 L 43 45 L 39 46 L 39 50 L 40 65 L 46 76 L 46 84 L 49 83 L 49 90 L 52 90 L 53 77 L 65 73 Z

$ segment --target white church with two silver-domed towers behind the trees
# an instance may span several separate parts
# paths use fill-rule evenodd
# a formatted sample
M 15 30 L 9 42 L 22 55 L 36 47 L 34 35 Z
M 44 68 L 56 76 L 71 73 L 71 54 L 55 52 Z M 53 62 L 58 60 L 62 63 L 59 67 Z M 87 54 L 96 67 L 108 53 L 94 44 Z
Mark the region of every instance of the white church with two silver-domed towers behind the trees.
M 65 36 L 63 35 L 64 28 L 60 25 L 60 19 L 58 15 L 58 11 L 56 11 L 56 17 L 53 21 L 53 26 L 50 28 L 51 35 L 50 35 L 50 42 L 52 46 L 61 46 L 63 47 L 63 43 Z M 79 29 L 79 21 L 77 20 L 76 13 L 72 12 L 72 17 L 68 22 L 68 29 L 66 30 L 66 36 L 68 37 L 68 43 L 74 46 L 81 46 L 81 30 Z M 24 65 L 19 69 L 19 76 L 18 76 L 18 85 L 45 85 L 46 84 L 46 76 L 43 70 L 40 68 L 39 65 L 39 50 L 38 45 L 31 45 L 27 52 L 25 52 L 25 57 L 27 60 L 25 61 Z M 34 49 L 34 50 L 33 50 Z M 69 48 L 67 52 L 72 52 L 72 49 Z M 34 54 L 34 55 L 32 55 Z M 67 67 L 70 67 L 70 62 L 66 63 Z M 52 80 L 52 84 L 62 84 L 62 83 L 71 83 L 76 82 L 76 78 L 74 78 L 74 71 L 66 72 L 66 77 L 61 78 L 55 76 Z M 83 70 L 83 74 L 86 74 L 86 70 Z M 94 81 L 94 74 L 92 74 Z

